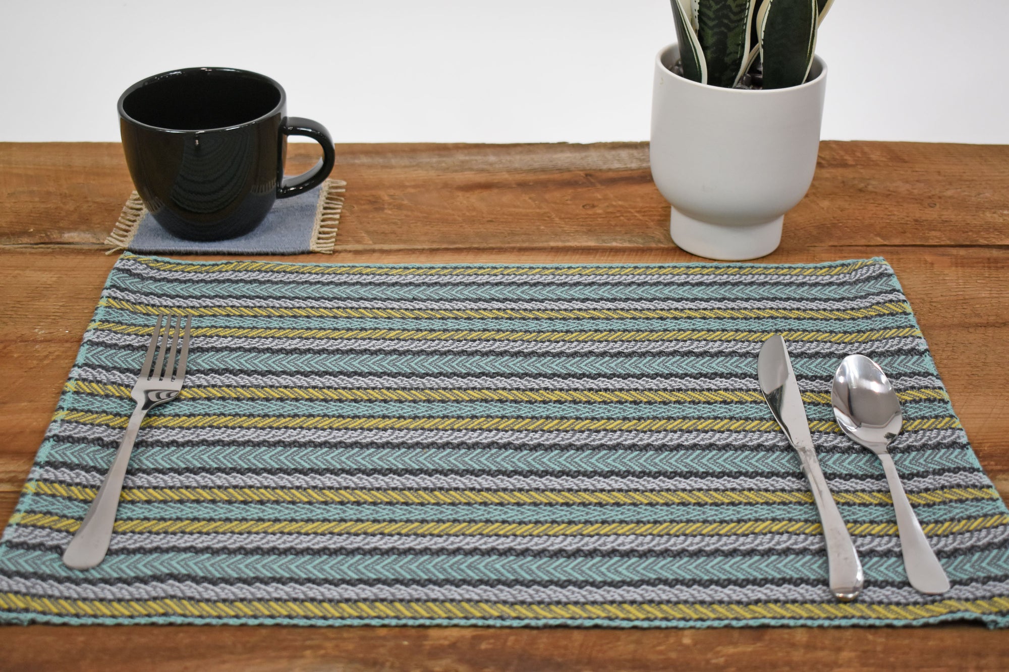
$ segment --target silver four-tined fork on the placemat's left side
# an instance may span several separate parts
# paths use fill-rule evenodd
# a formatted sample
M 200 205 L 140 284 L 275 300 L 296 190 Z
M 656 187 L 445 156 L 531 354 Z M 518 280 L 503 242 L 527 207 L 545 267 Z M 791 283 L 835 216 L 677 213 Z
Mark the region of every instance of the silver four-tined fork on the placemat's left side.
M 161 324 L 163 324 L 163 329 Z M 173 328 L 173 322 L 175 327 Z M 150 343 L 147 345 L 147 355 L 143 360 L 143 366 L 137 376 L 136 384 L 130 396 L 136 402 L 136 409 L 129 418 L 126 425 L 126 434 L 123 436 L 119 449 L 116 451 L 116 458 L 109 468 L 109 472 L 102 481 L 102 486 L 98 494 L 91 502 L 88 515 L 84 517 L 81 527 L 78 529 L 74 539 L 71 540 L 67 550 L 64 551 L 64 564 L 73 569 L 91 569 L 96 567 L 105 559 L 105 554 L 109 550 L 109 542 L 112 539 L 112 526 L 116 522 L 116 509 L 119 507 L 119 494 L 123 488 L 123 477 L 126 475 L 126 465 L 129 463 L 130 453 L 133 452 L 133 442 L 136 441 L 136 433 L 140 429 L 147 411 L 155 406 L 171 402 L 179 397 L 182 391 L 183 382 L 186 380 L 186 359 L 189 355 L 190 325 L 193 318 L 186 318 L 186 330 L 183 332 L 183 318 L 179 316 L 174 320 L 172 315 L 158 315 L 157 325 L 154 333 L 150 335 Z M 180 333 L 182 333 L 182 348 L 179 354 L 179 363 L 176 365 L 176 353 L 179 350 Z M 160 341 L 160 348 L 157 347 Z M 164 353 L 172 348 L 169 356 Z M 154 360 L 154 352 L 157 352 L 157 360 Z

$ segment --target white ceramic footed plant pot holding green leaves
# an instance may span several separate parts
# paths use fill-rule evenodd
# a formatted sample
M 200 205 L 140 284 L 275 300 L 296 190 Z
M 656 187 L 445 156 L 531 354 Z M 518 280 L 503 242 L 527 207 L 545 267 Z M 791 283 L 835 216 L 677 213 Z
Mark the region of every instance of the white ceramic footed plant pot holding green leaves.
M 674 75 L 679 58 L 671 44 L 655 60 L 650 149 L 673 242 L 711 259 L 770 254 L 816 169 L 826 66 L 816 57 L 805 84 L 749 91 Z

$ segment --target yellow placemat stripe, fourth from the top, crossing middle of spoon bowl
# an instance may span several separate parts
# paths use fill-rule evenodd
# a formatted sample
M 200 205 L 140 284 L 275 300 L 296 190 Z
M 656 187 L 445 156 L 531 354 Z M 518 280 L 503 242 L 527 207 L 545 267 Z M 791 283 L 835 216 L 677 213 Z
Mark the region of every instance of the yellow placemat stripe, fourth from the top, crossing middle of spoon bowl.
M 128 399 L 125 385 L 68 380 L 64 390 L 101 397 Z M 370 388 L 354 387 L 200 387 L 183 388 L 183 399 L 238 400 L 318 400 L 335 402 L 576 402 L 594 404 L 621 403 L 764 403 L 756 390 L 738 389 L 470 389 L 470 388 Z M 943 389 L 909 389 L 897 394 L 902 402 L 947 401 Z M 807 404 L 829 404 L 827 393 L 803 393 Z

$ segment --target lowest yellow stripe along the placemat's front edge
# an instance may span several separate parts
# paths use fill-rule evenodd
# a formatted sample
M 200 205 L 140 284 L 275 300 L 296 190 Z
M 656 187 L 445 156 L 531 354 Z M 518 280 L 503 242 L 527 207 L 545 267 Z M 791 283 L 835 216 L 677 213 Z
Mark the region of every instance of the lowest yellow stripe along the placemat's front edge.
M 995 614 L 1009 610 L 1009 597 L 991 599 L 943 599 L 929 604 L 864 604 L 861 602 L 763 602 L 761 604 L 696 604 L 691 602 L 592 604 L 515 604 L 490 601 L 371 601 L 319 602 L 308 600 L 216 601 L 149 599 L 105 601 L 59 599 L 16 592 L 0 593 L 0 610 L 32 611 L 49 615 L 117 618 L 195 617 L 290 619 L 539 619 L 642 621 L 656 617 L 672 621 L 752 621 L 767 618 L 787 620 L 869 619 L 909 621 L 968 611 Z

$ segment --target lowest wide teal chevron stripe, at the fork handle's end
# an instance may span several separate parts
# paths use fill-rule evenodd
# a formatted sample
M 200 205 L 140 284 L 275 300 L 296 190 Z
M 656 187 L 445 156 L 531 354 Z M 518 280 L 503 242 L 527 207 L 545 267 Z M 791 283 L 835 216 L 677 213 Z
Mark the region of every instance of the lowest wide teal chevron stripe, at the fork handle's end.
M 57 554 L 42 551 L 11 550 L 5 558 L 15 571 L 28 568 L 55 577 L 80 576 L 64 567 Z M 1009 552 L 980 552 L 946 558 L 942 565 L 952 580 L 1005 576 Z M 864 559 L 866 582 L 904 583 L 903 560 L 896 557 Z M 523 579 L 558 581 L 658 581 L 727 580 L 740 583 L 755 579 L 791 579 L 825 582 L 826 557 L 815 555 L 768 555 L 743 557 L 509 557 L 509 556 L 363 556 L 324 554 L 310 556 L 238 555 L 198 553 L 158 555 L 110 555 L 89 570 L 95 578 L 145 577 L 173 574 L 200 578 L 292 578 L 292 579 L 376 579 L 407 581 Z

